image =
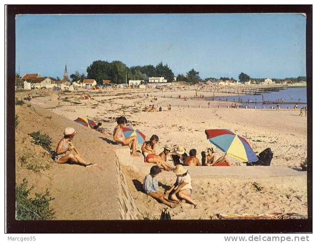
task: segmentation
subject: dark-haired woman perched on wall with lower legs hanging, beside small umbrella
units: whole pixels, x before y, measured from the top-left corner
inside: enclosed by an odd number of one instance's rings
[[[117,142],[118,145],[121,146],[126,146],[129,144],[132,144],[132,156],[139,156],[136,153],[136,136],[131,136],[129,138],[125,137],[125,134],[123,133],[122,129],[126,126],[127,124],[127,119],[124,116],[118,117],[117,118],[117,123],[118,125],[115,127],[114,130],[114,140]]]

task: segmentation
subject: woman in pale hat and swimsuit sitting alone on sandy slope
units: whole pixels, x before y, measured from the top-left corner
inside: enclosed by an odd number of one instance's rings
[[[76,131],[72,127],[65,128],[64,137],[57,145],[54,161],[57,163],[66,163],[66,162],[78,163],[85,167],[96,165],[96,163],[87,163],[81,158],[78,150],[71,143],[71,140],[73,139],[75,134],[76,134]],[[72,150],[75,151],[76,154],[70,154],[69,152]]]

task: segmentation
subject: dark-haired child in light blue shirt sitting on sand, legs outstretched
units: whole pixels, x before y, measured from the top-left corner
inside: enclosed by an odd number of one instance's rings
[[[174,208],[177,205],[176,203],[178,202],[169,200],[168,195],[164,195],[162,192],[159,191],[157,175],[161,172],[162,169],[159,166],[152,166],[150,169],[150,173],[144,178],[143,190],[147,195],[153,197],[154,199],[171,208]]]

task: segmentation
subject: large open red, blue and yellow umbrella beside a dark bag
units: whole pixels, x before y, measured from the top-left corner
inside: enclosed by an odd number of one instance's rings
[[[227,129],[205,130],[210,143],[217,146],[226,155],[230,155],[243,162],[255,162],[258,160],[248,141]]]

